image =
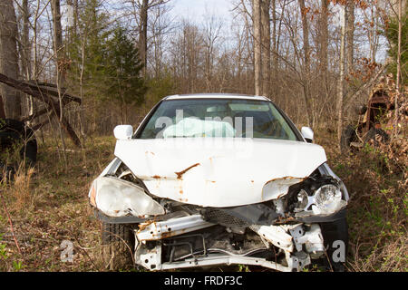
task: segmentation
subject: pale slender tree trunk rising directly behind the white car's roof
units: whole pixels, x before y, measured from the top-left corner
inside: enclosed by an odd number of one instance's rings
[[[262,92],[262,63],[261,63],[261,20],[260,20],[260,0],[252,0],[252,18],[254,23],[254,73],[255,73],[255,94]]]

